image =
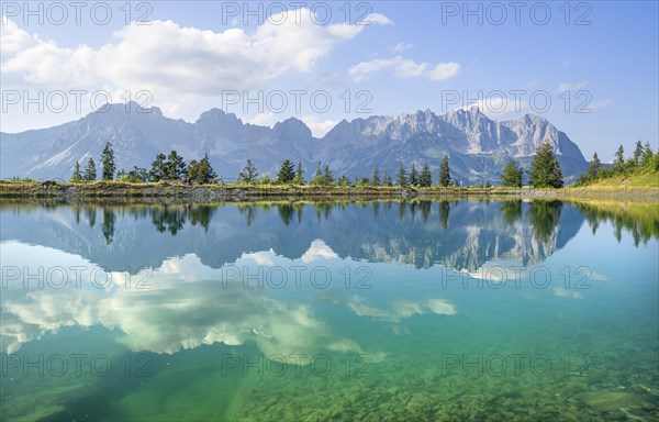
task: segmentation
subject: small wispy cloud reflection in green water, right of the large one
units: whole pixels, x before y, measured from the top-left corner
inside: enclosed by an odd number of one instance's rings
[[[439,315],[455,315],[456,307],[444,299],[426,299],[421,301],[398,300],[389,309],[373,307],[366,299],[354,296],[347,303],[347,308],[358,316],[370,316],[376,320],[398,322],[413,315],[426,312]]]

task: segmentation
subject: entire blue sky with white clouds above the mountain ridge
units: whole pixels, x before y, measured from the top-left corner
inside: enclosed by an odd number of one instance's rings
[[[656,1],[299,3],[2,2],[1,130],[78,119],[92,98],[186,121],[297,116],[319,136],[478,102],[494,120],[547,118],[587,157],[659,146]]]

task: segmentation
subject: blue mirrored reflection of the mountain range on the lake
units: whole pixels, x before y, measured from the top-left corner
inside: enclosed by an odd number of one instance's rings
[[[159,267],[193,253],[214,268],[243,253],[299,258],[323,240],[339,257],[440,263],[474,270],[485,260],[544,260],[584,216],[560,202],[372,202],[169,207],[4,207],[1,240],[80,255],[110,270]]]

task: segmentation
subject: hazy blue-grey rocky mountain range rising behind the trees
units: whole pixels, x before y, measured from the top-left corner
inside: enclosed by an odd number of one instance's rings
[[[164,116],[158,108],[129,103],[56,127],[0,133],[0,176],[66,180],[76,160],[82,167],[89,157],[98,160],[105,142],[111,142],[118,169],[149,168],[156,154],[176,149],[188,160],[208,153],[216,173],[228,180],[247,158],[261,174],[270,175],[284,158],[302,162],[306,177],[317,163],[328,164],[335,176],[369,176],[378,166],[393,177],[401,160],[407,167],[427,162],[436,177],[442,157],[448,154],[454,177],[463,184],[496,182],[509,159],[528,166],[543,141],[551,144],[563,176],[583,171],[587,163],[579,147],[546,119],[529,114],[495,122],[476,107],[444,115],[426,110],[344,120],[315,138],[294,118],[270,129],[212,109],[188,123]]]

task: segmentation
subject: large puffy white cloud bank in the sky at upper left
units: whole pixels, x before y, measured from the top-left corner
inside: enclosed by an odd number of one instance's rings
[[[300,16],[299,24],[293,16],[272,16],[254,33],[243,29],[203,31],[153,21],[115,32],[114,42],[100,48],[64,48],[29,34],[8,19],[1,44],[2,76],[70,88],[108,84],[123,90],[152,90],[154,97],[170,92],[219,95],[226,89],[258,88],[283,75],[309,73],[336,44],[368,27],[317,25],[311,12]],[[368,18],[373,24],[391,23],[382,14]]]

